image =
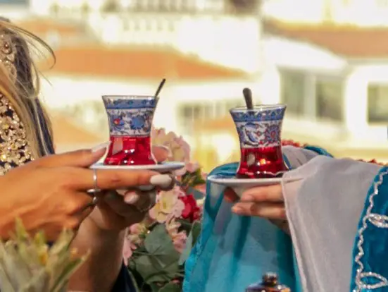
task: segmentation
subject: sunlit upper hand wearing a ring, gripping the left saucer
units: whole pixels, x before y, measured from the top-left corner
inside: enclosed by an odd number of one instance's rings
[[[0,236],[6,238],[20,217],[27,231],[43,229],[49,241],[63,228],[77,229],[94,205],[87,190],[94,188],[93,171],[105,149],[51,155],[8,171],[0,177]],[[147,185],[154,171],[98,171],[98,187],[117,189]]]

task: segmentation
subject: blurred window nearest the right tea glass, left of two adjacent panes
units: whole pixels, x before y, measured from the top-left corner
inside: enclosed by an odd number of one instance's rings
[[[287,112],[290,114],[303,115],[306,75],[299,72],[280,73],[280,95],[282,103],[287,104]]]

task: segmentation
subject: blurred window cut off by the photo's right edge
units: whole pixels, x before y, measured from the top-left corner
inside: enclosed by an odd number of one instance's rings
[[[368,122],[388,122],[388,85],[368,86]]]

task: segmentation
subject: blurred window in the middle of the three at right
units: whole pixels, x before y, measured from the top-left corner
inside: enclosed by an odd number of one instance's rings
[[[316,113],[318,118],[332,121],[342,121],[344,110],[344,95],[342,81],[317,80],[316,83]]]

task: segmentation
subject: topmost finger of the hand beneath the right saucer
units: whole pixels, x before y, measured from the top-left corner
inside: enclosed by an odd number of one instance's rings
[[[241,197],[245,202],[283,202],[282,185],[267,185],[246,190]]]

